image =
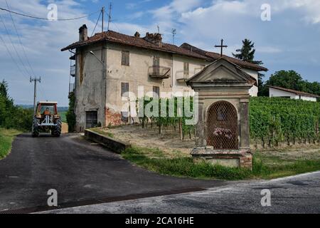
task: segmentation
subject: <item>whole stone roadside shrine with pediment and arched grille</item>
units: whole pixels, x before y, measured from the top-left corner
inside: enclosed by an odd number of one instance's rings
[[[188,81],[198,93],[195,161],[252,168],[249,90],[255,78],[221,57]]]

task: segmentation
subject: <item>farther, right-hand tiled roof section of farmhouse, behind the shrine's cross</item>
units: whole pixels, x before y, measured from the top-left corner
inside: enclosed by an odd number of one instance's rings
[[[204,50],[201,50],[200,48],[192,46],[189,43],[183,43],[180,47],[181,48],[185,48],[185,49],[187,49],[189,51],[196,52],[196,53],[201,54],[203,56],[208,56],[210,58],[213,58],[213,60],[217,60],[217,59],[219,59],[221,57],[221,55],[219,53],[210,52],[210,51],[204,51]],[[223,57],[227,58],[228,61],[230,61],[232,63],[235,63],[235,64],[237,64],[238,66],[240,66],[242,68],[248,68],[248,69],[252,69],[252,70],[255,70],[255,71],[268,71],[268,69],[263,67],[263,66],[259,66],[259,65],[254,64],[254,63],[249,63],[249,62],[246,62],[246,61],[242,61],[242,60],[240,60],[238,58],[233,58],[233,57],[229,57],[229,56],[225,56],[225,55],[223,55]]]

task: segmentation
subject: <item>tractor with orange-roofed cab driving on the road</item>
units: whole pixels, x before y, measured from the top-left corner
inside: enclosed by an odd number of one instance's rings
[[[51,133],[55,137],[61,134],[61,118],[58,114],[56,102],[41,101],[37,103],[36,113],[33,116],[32,136],[40,133]]]

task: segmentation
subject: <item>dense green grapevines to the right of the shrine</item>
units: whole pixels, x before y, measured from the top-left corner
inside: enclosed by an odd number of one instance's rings
[[[262,147],[279,142],[319,142],[320,103],[287,98],[251,98],[250,135]]]

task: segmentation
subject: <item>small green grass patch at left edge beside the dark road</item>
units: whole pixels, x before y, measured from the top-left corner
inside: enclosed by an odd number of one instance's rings
[[[0,159],[9,154],[12,141],[19,133],[21,132],[18,130],[0,128]]]

